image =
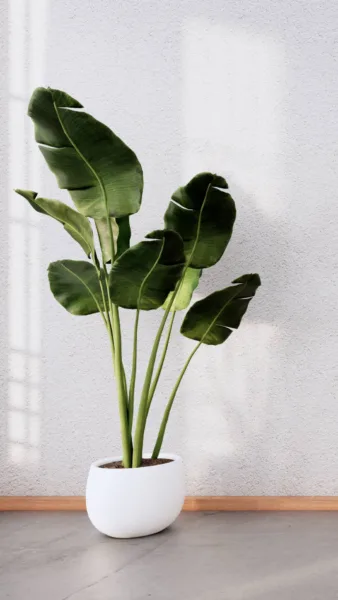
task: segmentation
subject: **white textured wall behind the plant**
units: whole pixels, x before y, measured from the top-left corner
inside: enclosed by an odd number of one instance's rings
[[[32,150],[24,113],[36,85],[67,90],[137,152],[146,185],[134,240],[198,171],[231,184],[235,233],[199,294],[250,271],[263,285],[239,332],[199,351],[177,398],[164,447],[183,455],[188,492],[337,493],[336,2],[9,5],[0,5],[1,494],[82,494],[89,463],[119,449],[101,322],[71,317],[48,290],[48,263],[80,250],[11,191],[63,197]],[[142,315],[143,369],[158,318]],[[148,448],[191,346],[177,333]]]

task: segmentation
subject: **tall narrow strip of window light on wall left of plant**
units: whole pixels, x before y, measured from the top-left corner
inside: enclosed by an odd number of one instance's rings
[[[13,188],[40,191],[41,160],[26,116],[42,84],[47,0],[9,5],[9,382],[8,459],[37,465],[41,435],[40,216]],[[27,65],[29,68],[27,69]]]

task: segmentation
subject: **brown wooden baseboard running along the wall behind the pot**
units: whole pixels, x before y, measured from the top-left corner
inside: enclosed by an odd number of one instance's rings
[[[0,511],[83,511],[83,496],[0,496]],[[183,510],[333,511],[338,496],[187,496]]]

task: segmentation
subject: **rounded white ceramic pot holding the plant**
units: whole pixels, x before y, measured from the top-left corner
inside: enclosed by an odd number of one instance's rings
[[[139,469],[100,468],[121,460],[111,456],[91,465],[86,504],[96,529],[111,537],[132,538],[157,533],[175,521],[185,495],[183,462],[175,454],[159,458],[172,461]]]

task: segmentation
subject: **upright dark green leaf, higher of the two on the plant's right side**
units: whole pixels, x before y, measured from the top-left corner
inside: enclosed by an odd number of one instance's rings
[[[211,267],[230,241],[236,208],[227,189],[223,177],[200,173],[172,195],[165,227],[180,234],[190,267]]]

